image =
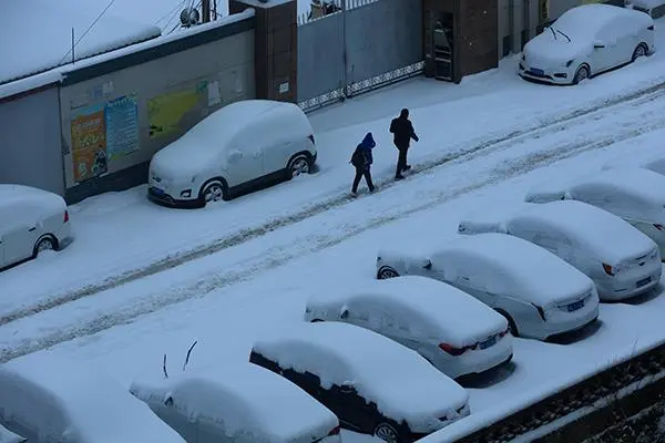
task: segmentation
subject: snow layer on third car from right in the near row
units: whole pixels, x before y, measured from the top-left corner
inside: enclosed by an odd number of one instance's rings
[[[552,253],[507,234],[459,236],[436,249],[432,261],[448,281],[472,278],[477,287],[540,306],[567,300],[593,288],[589,277]]]

